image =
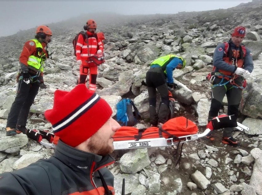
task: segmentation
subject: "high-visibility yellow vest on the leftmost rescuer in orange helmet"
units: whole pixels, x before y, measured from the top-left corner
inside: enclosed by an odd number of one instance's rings
[[[44,66],[42,65],[44,62],[43,57],[46,55],[43,52],[43,46],[37,39],[32,39],[30,41],[35,42],[36,52],[34,53],[34,55],[29,56],[27,64],[28,66],[32,66],[35,69],[41,70],[41,72],[43,72],[44,70]]]

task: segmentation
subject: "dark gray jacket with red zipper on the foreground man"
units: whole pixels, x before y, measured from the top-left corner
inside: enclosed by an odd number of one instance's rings
[[[114,194],[113,174],[105,168],[113,162],[110,155],[102,157],[87,153],[59,140],[50,159],[41,159],[23,169],[0,174],[0,195],[77,195],[81,192],[104,195],[98,169]]]

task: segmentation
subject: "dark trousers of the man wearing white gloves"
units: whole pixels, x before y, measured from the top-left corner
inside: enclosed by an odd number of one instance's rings
[[[218,115],[219,109],[222,105],[222,101],[224,96],[227,96],[228,101],[228,115],[238,114],[238,107],[242,98],[242,90],[240,88],[234,87],[228,80],[224,79],[222,82],[222,78],[215,78],[213,81],[212,92],[211,92],[211,106],[208,113],[208,120],[216,117]],[[226,85],[216,86],[217,84],[226,83]],[[234,80],[236,85],[242,86],[243,79],[242,77],[238,77]],[[231,137],[233,128],[228,127],[224,128],[223,137]]]

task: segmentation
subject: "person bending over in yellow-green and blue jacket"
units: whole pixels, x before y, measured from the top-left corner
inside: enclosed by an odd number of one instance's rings
[[[146,73],[146,85],[149,97],[149,115],[151,126],[162,126],[169,115],[168,86],[176,88],[174,83],[173,70],[185,68],[186,60],[174,54],[157,58],[150,64]],[[157,93],[161,96],[158,114],[156,112]]]

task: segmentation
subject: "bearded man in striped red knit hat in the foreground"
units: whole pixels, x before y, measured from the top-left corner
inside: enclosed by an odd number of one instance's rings
[[[45,117],[60,137],[54,156],[0,175],[0,194],[114,194],[113,174],[105,168],[120,125],[109,104],[85,84],[56,90]]]

